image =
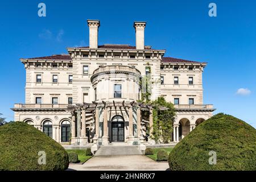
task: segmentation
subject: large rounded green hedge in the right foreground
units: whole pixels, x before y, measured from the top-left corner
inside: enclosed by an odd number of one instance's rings
[[[216,164],[210,151],[216,152]],[[210,159],[209,159],[210,158]],[[256,170],[256,130],[223,113],[197,126],[170,152],[171,170]]]

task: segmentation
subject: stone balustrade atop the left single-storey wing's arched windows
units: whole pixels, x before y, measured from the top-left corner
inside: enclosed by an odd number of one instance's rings
[[[59,109],[66,109],[68,104],[14,104],[14,108],[28,108],[28,109],[38,109],[38,108],[59,108]]]

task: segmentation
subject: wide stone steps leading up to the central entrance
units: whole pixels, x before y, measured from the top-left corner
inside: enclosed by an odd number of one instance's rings
[[[95,156],[103,155],[142,155],[142,152],[139,146],[100,146]]]

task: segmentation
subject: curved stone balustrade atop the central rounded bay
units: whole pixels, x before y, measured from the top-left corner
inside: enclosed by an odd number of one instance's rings
[[[129,66],[123,66],[123,65],[107,65],[104,67],[97,68],[94,72],[93,75],[97,73],[102,73],[102,72],[131,72],[131,73],[136,73],[138,75],[141,75],[141,72],[138,71],[138,69],[129,67]]]

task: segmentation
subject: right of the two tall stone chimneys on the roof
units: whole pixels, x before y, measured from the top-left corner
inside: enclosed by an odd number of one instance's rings
[[[135,28],[136,34],[136,49],[144,49],[144,29],[146,22],[134,22],[133,27]]]

